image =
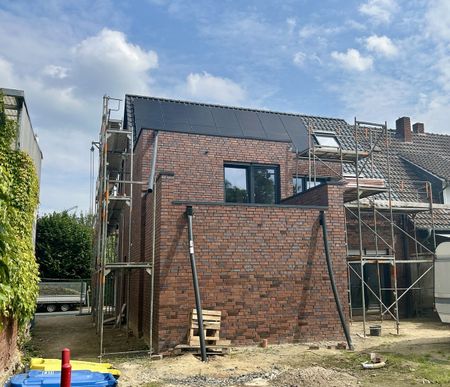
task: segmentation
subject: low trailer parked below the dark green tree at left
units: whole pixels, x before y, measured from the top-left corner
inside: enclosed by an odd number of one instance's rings
[[[87,302],[87,283],[85,281],[51,281],[39,283],[37,308],[49,313],[60,310],[67,312]]]

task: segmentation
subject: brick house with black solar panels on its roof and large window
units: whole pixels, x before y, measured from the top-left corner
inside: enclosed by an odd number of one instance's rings
[[[133,191],[129,258],[151,261],[155,246],[155,350],[184,342],[195,307],[186,206],[194,211],[202,304],[222,311],[222,337],[236,344],[263,338],[342,340],[319,215],[326,213],[337,287],[348,315],[344,186],[330,181],[294,196],[293,177],[305,168],[295,149],[308,148],[307,120],[324,128],[347,125],[126,96],[124,127],[135,137],[134,179],[148,181],[155,170],[152,192]],[[126,229],[126,218],[124,223]],[[150,286],[147,276],[134,273],[129,324],[147,340]]]

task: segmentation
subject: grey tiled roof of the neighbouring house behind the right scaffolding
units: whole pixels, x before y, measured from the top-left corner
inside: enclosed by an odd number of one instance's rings
[[[354,133],[354,126],[349,131]],[[372,129],[373,137],[380,130]],[[338,138],[340,138],[337,133]],[[439,202],[443,180],[450,181],[450,136],[435,133],[412,133],[412,141],[404,142],[395,129],[388,130],[390,156],[387,156],[386,139],[378,143],[378,151],[373,152],[373,171],[366,168],[365,177],[383,177],[389,180],[394,200],[404,202],[429,202],[427,181],[434,182],[433,202]],[[358,141],[364,149],[369,149],[368,135],[365,128],[360,128]],[[361,165],[364,163],[361,160]],[[372,164],[372,163],[369,163]],[[353,168],[350,166],[348,168]],[[388,179],[389,176],[389,179]],[[374,196],[374,199],[387,199],[386,193]],[[450,230],[450,209],[438,208],[415,216],[418,228],[431,228],[433,223],[438,230]]]

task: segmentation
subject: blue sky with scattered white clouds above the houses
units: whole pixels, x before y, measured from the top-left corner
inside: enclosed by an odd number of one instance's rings
[[[89,208],[102,96],[450,134],[448,0],[0,0],[0,87],[25,91],[40,213]]]

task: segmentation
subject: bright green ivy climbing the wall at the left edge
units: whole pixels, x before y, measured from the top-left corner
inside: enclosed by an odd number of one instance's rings
[[[1,94],[0,101],[0,315],[23,326],[38,294],[32,235],[39,188],[32,159],[11,148],[16,124],[5,116]]]

